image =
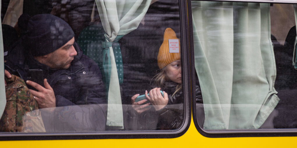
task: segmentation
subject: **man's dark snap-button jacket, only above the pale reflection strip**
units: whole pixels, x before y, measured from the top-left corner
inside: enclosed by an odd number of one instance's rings
[[[11,74],[20,76],[26,81],[29,69],[43,71],[44,78],[53,88],[56,106],[75,104],[105,104],[105,86],[98,65],[83,52],[75,43],[77,55],[68,69],[51,69],[35,60],[23,49],[22,40],[5,57],[5,69]]]

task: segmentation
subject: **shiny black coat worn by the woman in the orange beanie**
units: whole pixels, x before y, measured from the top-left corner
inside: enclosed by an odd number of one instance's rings
[[[161,110],[155,111],[154,107],[151,107],[150,110],[141,114],[133,110],[131,105],[128,106],[126,114],[124,114],[127,116],[124,122],[126,130],[170,130],[177,129],[182,125],[184,122],[184,93],[178,91],[174,94],[177,83],[166,82],[164,86],[166,87],[161,90],[168,94],[168,104]],[[196,103],[203,103],[198,78],[196,80]]]

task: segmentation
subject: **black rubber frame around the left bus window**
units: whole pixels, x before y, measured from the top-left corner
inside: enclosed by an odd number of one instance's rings
[[[181,65],[184,90],[184,122],[176,130],[155,130],[155,131],[99,131],[99,132],[73,132],[73,133],[0,133],[0,141],[12,140],[68,140],[68,139],[139,139],[139,138],[176,138],[182,136],[188,130],[191,123],[191,76],[189,71],[192,69],[190,54],[190,36],[187,16],[187,8],[190,1],[177,0],[179,3],[180,31],[181,31]]]

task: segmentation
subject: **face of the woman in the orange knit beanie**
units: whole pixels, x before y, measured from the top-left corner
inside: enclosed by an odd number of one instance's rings
[[[176,60],[165,66],[166,77],[181,84],[181,60]]]

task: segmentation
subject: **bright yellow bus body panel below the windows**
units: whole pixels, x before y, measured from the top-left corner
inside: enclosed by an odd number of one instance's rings
[[[208,138],[201,135],[193,120],[187,132],[177,138],[162,139],[90,139],[90,140],[29,140],[0,141],[1,147],[296,147],[297,137],[232,137]]]

